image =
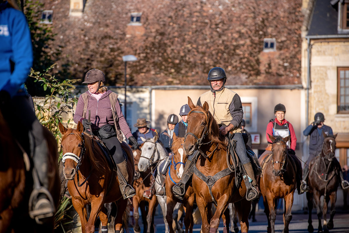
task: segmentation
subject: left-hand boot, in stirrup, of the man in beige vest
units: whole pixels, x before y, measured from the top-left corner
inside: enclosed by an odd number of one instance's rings
[[[189,159],[187,160],[187,162],[185,163],[185,166],[184,166],[182,178],[180,179],[180,181],[176,185],[174,185],[172,187],[173,195],[180,200],[183,200],[183,198],[184,198],[184,194],[185,194],[186,189],[188,187],[187,183],[193,175],[193,171],[190,168],[193,165],[195,166],[195,163],[196,163],[195,156],[192,158],[192,161],[190,161]]]

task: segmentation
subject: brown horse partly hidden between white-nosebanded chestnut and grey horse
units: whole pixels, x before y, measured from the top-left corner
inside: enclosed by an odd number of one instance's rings
[[[151,173],[151,169],[148,168],[144,172],[138,170],[138,161],[141,157],[142,151],[137,148],[133,150],[134,165],[135,165],[135,180],[133,182],[133,188],[136,190],[136,195],[132,198],[133,204],[133,217],[135,220],[135,225],[133,226],[133,231],[135,233],[140,233],[141,228],[139,227],[139,212],[138,207],[141,208],[142,220],[143,220],[143,233],[154,232],[154,216],[155,209],[158,204],[155,195],[151,198],[146,198],[143,196],[145,190],[148,190],[153,186],[155,179]],[[152,187],[154,189],[154,186]],[[155,189],[154,189],[155,190]],[[148,203],[148,207],[147,204]],[[148,209],[148,210],[147,210]]]

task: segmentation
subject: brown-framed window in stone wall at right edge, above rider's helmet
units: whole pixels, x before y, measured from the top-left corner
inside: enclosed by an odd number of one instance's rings
[[[349,113],[349,67],[338,68],[337,112]]]

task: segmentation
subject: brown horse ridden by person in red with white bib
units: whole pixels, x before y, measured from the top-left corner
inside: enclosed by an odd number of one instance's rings
[[[268,233],[275,232],[276,219],[276,203],[278,198],[283,198],[285,203],[285,211],[283,214],[284,230],[283,233],[288,233],[288,226],[292,219],[293,195],[297,188],[296,173],[302,174],[302,170],[297,171],[295,163],[300,163],[294,156],[288,155],[286,143],[291,136],[276,138],[269,135],[272,140],[272,153],[260,157],[260,163],[264,164],[263,171],[259,179],[259,189],[263,196],[264,211],[268,218]]]

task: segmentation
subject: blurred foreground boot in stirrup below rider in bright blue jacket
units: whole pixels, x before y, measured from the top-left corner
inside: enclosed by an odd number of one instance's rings
[[[33,191],[29,197],[29,216],[35,219],[37,224],[44,224],[55,212],[53,198],[48,190],[48,145],[46,140],[37,144],[31,134],[29,134],[29,138],[34,165],[32,168]]]

